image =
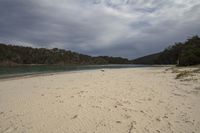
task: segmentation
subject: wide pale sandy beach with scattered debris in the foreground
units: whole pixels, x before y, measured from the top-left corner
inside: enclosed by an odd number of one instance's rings
[[[200,75],[166,67],[0,81],[0,133],[200,133]]]

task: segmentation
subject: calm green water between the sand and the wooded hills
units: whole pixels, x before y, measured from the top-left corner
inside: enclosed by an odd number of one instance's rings
[[[26,76],[33,74],[44,74],[65,71],[80,71],[92,69],[116,69],[116,68],[135,68],[146,67],[145,65],[74,65],[74,66],[59,66],[59,65],[42,65],[42,66],[0,66],[0,78],[9,78],[16,76]]]

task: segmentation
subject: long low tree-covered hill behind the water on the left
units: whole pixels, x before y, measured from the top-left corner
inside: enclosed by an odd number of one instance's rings
[[[63,49],[31,48],[0,44],[0,65],[17,64],[128,64],[128,59],[121,57],[79,54]]]

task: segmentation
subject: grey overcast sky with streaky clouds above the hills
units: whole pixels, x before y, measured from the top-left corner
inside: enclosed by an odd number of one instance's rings
[[[0,42],[136,58],[200,35],[200,0],[0,0]]]

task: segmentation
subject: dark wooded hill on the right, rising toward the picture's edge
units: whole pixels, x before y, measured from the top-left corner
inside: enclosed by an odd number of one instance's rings
[[[134,64],[177,64],[190,66],[200,64],[200,38],[194,36],[183,43],[175,43],[164,51],[134,59]]]

